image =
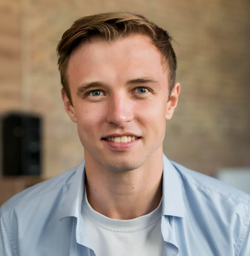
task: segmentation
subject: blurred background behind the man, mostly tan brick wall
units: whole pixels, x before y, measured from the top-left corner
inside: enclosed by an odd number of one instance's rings
[[[83,160],[76,125],[61,100],[55,50],[74,20],[113,10],[141,13],[175,39],[181,95],[167,122],[164,153],[228,183],[240,179],[236,187],[250,193],[249,0],[1,0],[0,114],[4,119],[21,111],[40,118],[34,139],[39,168],[10,178],[2,164],[2,201]],[[4,129],[13,134],[11,125]],[[13,146],[1,134],[3,162],[3,145]]]

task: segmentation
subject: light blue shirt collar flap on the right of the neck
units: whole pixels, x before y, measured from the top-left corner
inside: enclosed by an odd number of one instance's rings
[[[178,171],[163,154],[162,215],[184,218],[184,200]]]

